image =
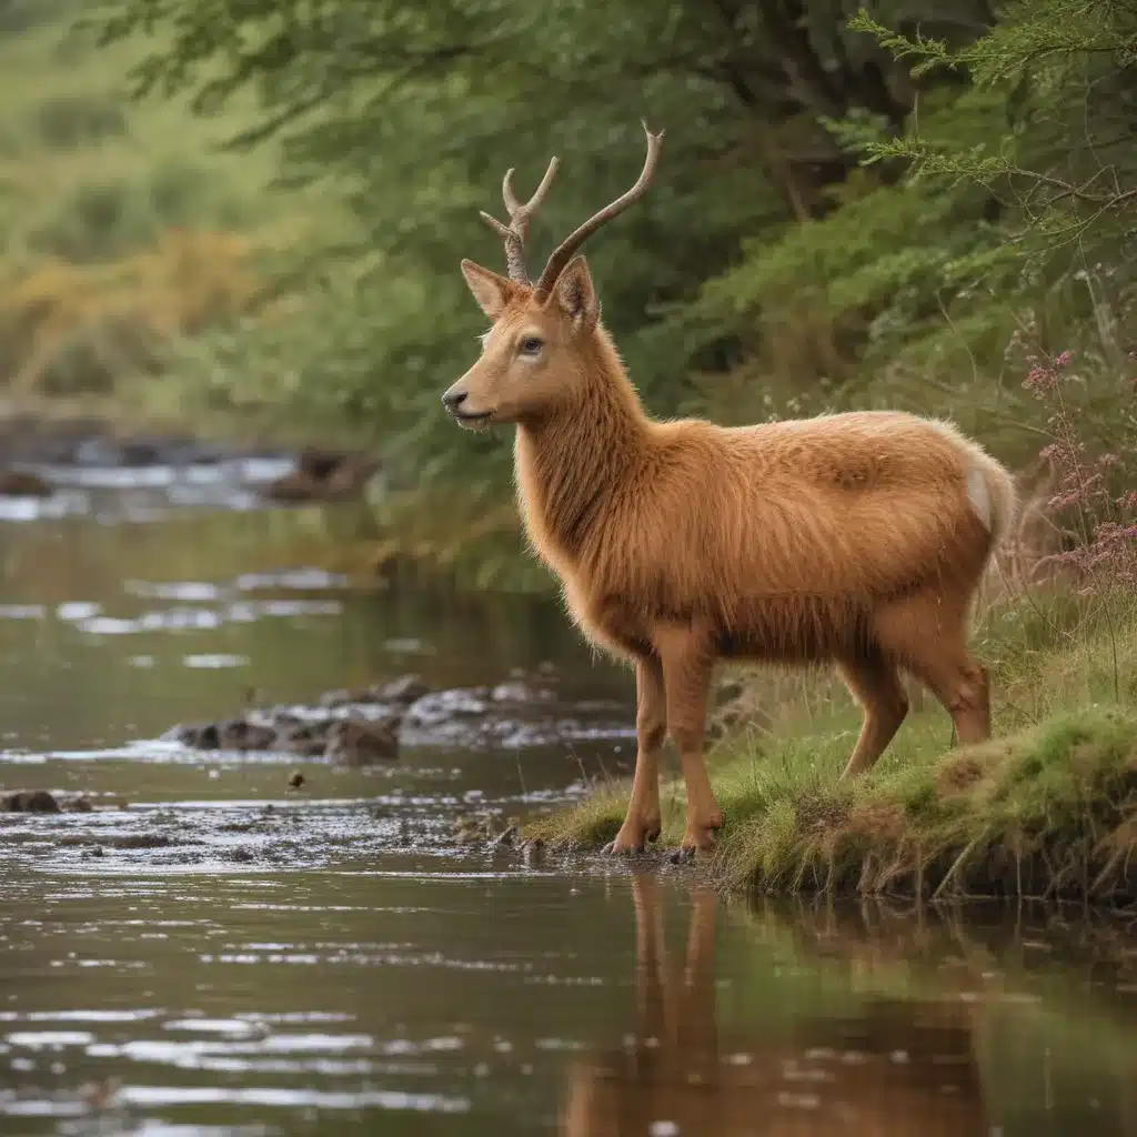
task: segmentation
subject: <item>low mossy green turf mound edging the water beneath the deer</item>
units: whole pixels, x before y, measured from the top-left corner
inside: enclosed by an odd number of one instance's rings
[[[715,775],[727,814],[711,871],[777,893],[1137,897],[1137,715],[1064,711],[928,761],[880,763],[838,783],[844,746],[783,740]],[[681,787],[663,843],[682,833]],[[620,828],[625,787],[605,787],[526,836],[597,846]]]

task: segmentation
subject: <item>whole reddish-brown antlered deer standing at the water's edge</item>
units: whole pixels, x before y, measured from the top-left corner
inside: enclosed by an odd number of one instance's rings
[[[462,272],[492,327],[442,396],[467,428],[516,425],[525,529],[597,646],[634,663],[631,800],[609,852],[659,833],[670,733],[687,789],[682,850],[723,816],[703,757],[716,659],[836,664],[864,709],[843,777],[868,770],[907,699],[899,670],[949,712],[961,742],[990,735],[987,673],[968,652],[973,595],[1016,506],[1009,473],[944,422],[893,412],[722,428],[642,410],[600,323],[583,241],[648,188],[663,133],[626,193],[549,257],[537,283],[525,232],[557,159],[522,205],[503,183],[508,277]]]

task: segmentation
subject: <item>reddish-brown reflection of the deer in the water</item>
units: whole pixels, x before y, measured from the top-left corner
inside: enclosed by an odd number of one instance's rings
[[[872,1005],[779,1040],[720,1039],[713,891],[696,890],[686,960],[669,958],[658,881],[632,878],[634,1035],[576,1063],[563,1137],[961,1137],[988,1131],[966,1009]]]

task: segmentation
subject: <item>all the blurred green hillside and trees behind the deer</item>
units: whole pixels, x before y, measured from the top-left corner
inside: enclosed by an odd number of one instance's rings
[[[3,0],[0,26],[9,387],[374,445],[376,555],[548,586],[507,439],[439,409],[483,323],[457,262],[500,267],[476,211],[555,152],[543,255],[634,177],[640,117],[661,174],[588,254],[652,412],[906,407],[1030,468],[1029,357],[1071,350],[1081,437],[1134,430],[1134,0]]]

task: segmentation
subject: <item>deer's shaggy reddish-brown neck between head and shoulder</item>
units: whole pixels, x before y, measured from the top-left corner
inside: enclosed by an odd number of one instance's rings
[[[588,382],[571,407],[517,426],[517,491],[530,538],[554,562],[578,562],[628,485],[649,422],[607,335],[598,331]]]

